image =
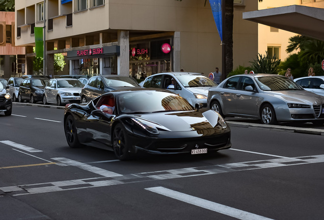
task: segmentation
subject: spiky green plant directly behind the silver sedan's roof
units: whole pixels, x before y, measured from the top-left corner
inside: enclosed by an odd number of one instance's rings
[[[258,53],[257,60],[253,60],[251,68],[255,73],[269,73],[278,74],[278,68],[281,60],[277,60],[276,55],[271,57],[268,52],[265,51],[265,55]]]

